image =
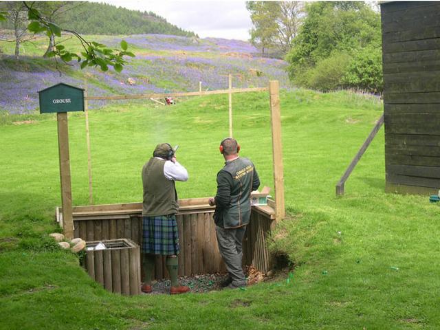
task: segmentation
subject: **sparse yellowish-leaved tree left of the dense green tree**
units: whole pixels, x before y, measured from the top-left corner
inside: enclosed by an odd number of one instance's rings
[[[275,49],[286,54],[298,34],[304,17],[303,3],[298,1],[248,1],[253,28],[251,43],[261,48]]]

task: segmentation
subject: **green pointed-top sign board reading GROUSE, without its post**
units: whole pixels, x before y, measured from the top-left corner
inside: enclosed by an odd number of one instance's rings
[[[84,89],[59,83],[39,91],[40,113],[84,111]]]

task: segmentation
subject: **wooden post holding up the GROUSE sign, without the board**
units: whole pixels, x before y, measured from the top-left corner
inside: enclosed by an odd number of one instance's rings
[[[56,113],[58,122],[58,152],[60,155],[61,203],[63,203],[63,230],[67,239],[74,238],[72,217],[72,184],[70,179],[69,129],[67,112]]]

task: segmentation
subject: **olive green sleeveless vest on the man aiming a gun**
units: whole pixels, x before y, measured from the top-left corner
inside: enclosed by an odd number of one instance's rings
[[[166,179],[164,165],[165,159],[151,157],[142,168],[142,185],[144,186],[143,217],[175,214],[179,210],[175,182]]]

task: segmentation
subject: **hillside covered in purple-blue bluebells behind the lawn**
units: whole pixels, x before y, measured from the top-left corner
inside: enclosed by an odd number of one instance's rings
[[[36,113],[39,90],[56,83],[85,87],[85,76],[89,96],[198,91],[199,82],[203,90],[226,89],[228,74],[233,75],[233,88],[264,87],[274,79],[289,87],[286,63],[258,57],[256,48],[245,41],[159,34],[87,37],[110,47],[118,47],[124,39],[135,58],[127,58],[121,73],[81,70],[75,64],[42,58],[47,47],[43,36],[23,43],[19,59],[12,56],[12,43],[0,41],[0,115]],[[80,51],[74,41],[66,43]],[[91,109],[101,105],[89,102]]]

